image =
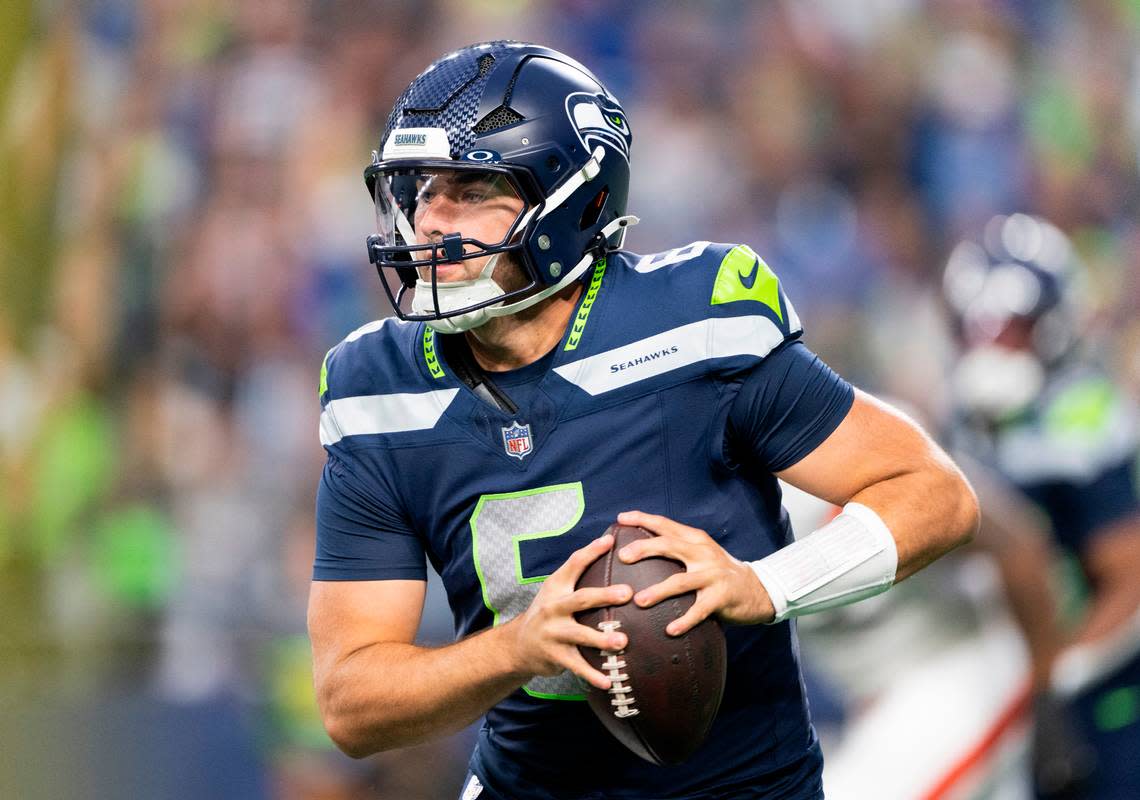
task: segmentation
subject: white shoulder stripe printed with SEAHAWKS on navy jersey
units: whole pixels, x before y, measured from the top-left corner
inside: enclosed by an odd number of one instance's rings
[[[554,372],[591,394],[728,356],[763,358],[784,334],[767,317],[712,317],[555,367]]]

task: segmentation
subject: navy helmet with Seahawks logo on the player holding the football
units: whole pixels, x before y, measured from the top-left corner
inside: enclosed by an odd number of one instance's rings
[[[579,280],[636,222],[626,217],[630,142],[617,99],[556,50],[499,41],[437,60],[397,100],[365,170],[378,223],[368,256],[396,313],[456,333]],[[417,231],[435,202],[454,205],[446,227]],[[464,226],[465,207],[489,203],[506,225],[494,242]],[[502,258],[519,264],[526,285],[495,281]],[[484,260],[477,277],[455,267],[475,259]],[[463,279],[446,279],[456,271]]]

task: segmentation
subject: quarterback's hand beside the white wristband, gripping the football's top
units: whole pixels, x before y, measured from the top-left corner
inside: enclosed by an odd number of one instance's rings
[[[705,531],[638,511],[618,514],[618,522],[657,533],[652,539],[622,547],[618,553],[621,561],[632,564],[650,556],[665,556],[685,565],[685,572],[634,596],[634,603],[648,607],[667,597],[697,593],[692,607],[666,627],[670,636],[681,636],[710,615],[732,625],[771,622],[775,617],[768,593],[756,573],[748,564],[728,555]]]

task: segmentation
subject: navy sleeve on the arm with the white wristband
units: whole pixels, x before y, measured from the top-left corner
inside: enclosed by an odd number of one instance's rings
[[[839,427],[854,400],[852,385],[807,345],[785,342],[740,383],[725,427],[727,460],[787,470]]]

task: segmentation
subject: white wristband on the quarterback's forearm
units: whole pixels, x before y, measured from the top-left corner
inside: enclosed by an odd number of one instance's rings
[[[882,594],[895,582],[895,537],[872,508],[848,503],[834,520],[749,566],[776,617],[814,614]]]

